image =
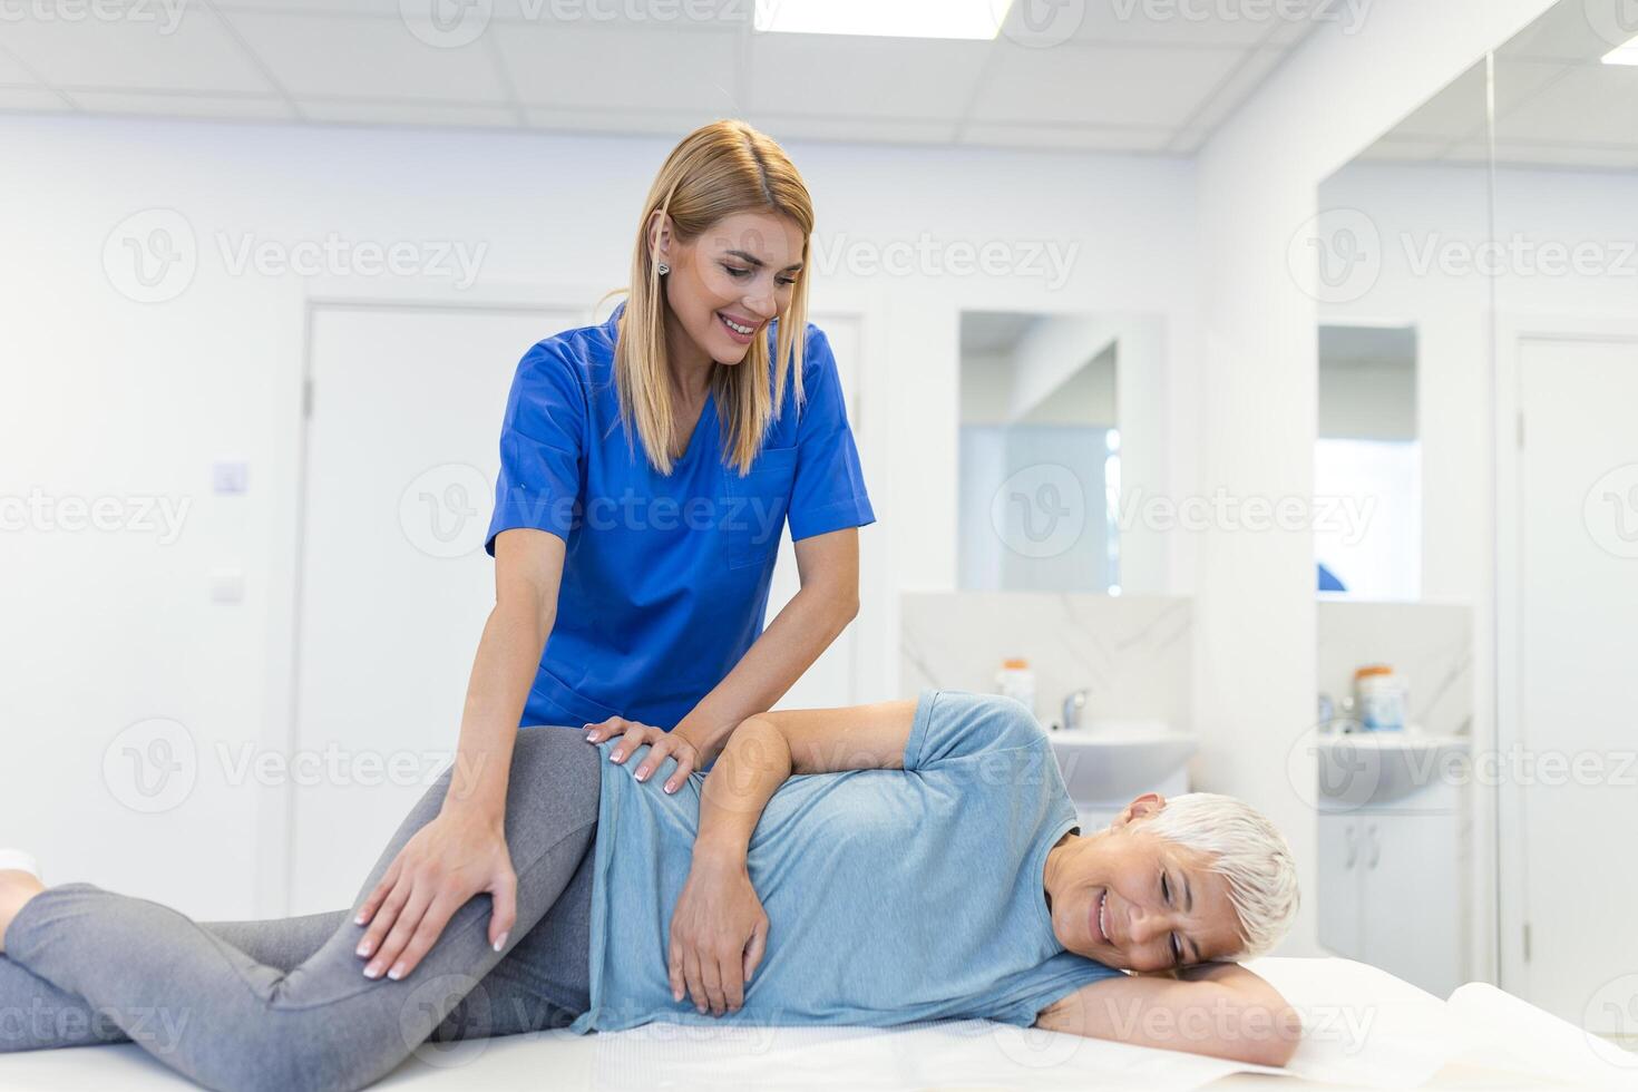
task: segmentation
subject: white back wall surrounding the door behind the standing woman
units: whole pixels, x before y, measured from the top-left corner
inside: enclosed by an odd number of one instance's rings
[[[246,740],[285,747],[305,301],[590,306],[624,282],[634,216],[668,142],[8,116],[0,146],[21,152],[0,165],[0,496],[192,504],[167,545],[136,530],[0,534],[0,827],[8,842],[36,846],[54,879],[93,879],[200,917],[277,912],[283,892],[257,868],[259,846],[282,837],[275,791],[200,771],[185,805],[138,814],[102,769],[116,735],[151,717],[185,724],[206,753]],[[814,308],[867,316],[855,426],[878,467],[868,485],[880,524],[865,534],[876,537],[894,593],[953,589],[960,311],[1156,313],[1168,323],[1166,368],[1181,368],[1196,309],[1186,275],[1192,167],[1083,154],[790,151],[817,203]],[[175,210],[200,242],[192,283],[164,303],[133,301],[103,268],[111,232],[144,210]],[[218,232],[280,247],[337,232],[354,244],[486,250],[465,290],[437,277],[346,270],[234,275]],[[1017,265],[950,268],[960,260],[952,246],[988,242]],[[1068,255],[1068,268],[1055,270],[1045,247]],[[930,257],[881,272],[916,252]],[[1186,421],[1189,403],[1168,413]],[[246,496],[210,493],[216,458],[249,463]],[[249,575],[236,606],[208,596],[210,571],[228,563]],[[860,642],[878,670],[863,696],[896,693],[896,594]]]

